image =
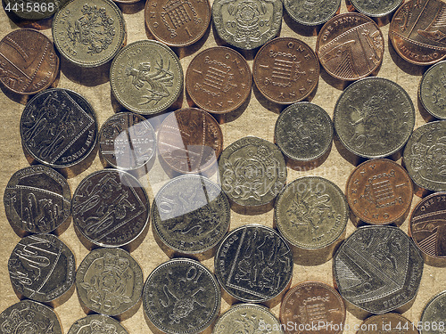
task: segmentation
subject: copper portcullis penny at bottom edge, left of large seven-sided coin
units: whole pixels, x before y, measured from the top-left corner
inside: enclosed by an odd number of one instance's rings
[[[337,334],[343,331],[345,306],[343,298],[332,287],[318,281],[304,281],[286,292],[280,306],[280,322],[287,334],[317,323],[319,334]]]

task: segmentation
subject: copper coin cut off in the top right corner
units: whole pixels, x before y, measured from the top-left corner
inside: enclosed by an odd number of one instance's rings
[[[402,59],[416,65],[434,64],[446,57],[446,4],[411,0],[394,13],[389,37]]]

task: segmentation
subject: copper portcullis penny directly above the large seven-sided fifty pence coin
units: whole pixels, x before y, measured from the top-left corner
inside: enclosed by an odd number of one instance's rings
[[[368,160],[356,167],[345,192],[353,214],[376,225],[400,223],[413,197],[408,172],[388,159]]]

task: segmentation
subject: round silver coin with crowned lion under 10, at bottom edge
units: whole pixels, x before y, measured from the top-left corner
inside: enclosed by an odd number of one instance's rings
[[[143,291],[145,314],[168,334],[206,330],[219,314],[220,299],[219,283],[209,269],[181,257],[157,266]]]

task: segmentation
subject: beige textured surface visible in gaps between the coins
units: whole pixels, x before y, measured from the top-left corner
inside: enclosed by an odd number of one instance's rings
[[[145,23],[144,23],[144,4],[140,2],[136,4],[131,10],[133,13],[125,13],[125,20],[128,28],[128,43],[146,39]],[[346,12],[345,3],[342,4],[341,12]],[[420,116],[417,108],[417,86],[420,77],[425,68],[412,66],[409,63],[402,61],[401,58],[392,50],[392,46],[388,45],[389,24],[382,27],[385,40],[385,53],[384,61],[378,76],[389,78],[401,86],[410,94],[412,102],[417,109],[417,122],[416,127],[425,123],[425,120]],[[3,10],[0,10],[0,37],[4,37],[12,29],[18,29],[18,27],[8,20]],[[45,35],[51,37],[51,29],[43,30]],[[302,36],[298,29],[293,27],[293,24],[288,18],[285,17],[282,23],[282,29],[280,31],[280,37],[297,37],[309,44],[313,49],[316,45],[315,36]],[[186,72],[188,63],[192,60],[194,55],[203,48],[216,45],[216,39],[214,37],[213,29],[208,30],[208,34],[202,38],[196,45],[183,50],[181,55],[181,62],[183,69]],[[252,67],[252,55],[248,54],[248,61]],[[97,75],[95,71],[91,69],[76,69],[73,68],[67,61],[62,60],[62,73],[60,77],[59,87],[69,88],[83,94],[89,102],[92,103],[99,122],[99,126],[109,118],[114,110],[111,100],[111,90],[107,79],[107,67],[101,73]],[[326,73],[322,70],[322,75],[319,79],[318,90],[315,94],[312,102],[317,103],[323,107],[328,114],[333,117],[333,110],[335,102],[338,96],[341,94],[341,90],[333,86],[332,80],[327,77]],[[183,106],[186,106],[186,98],[183,100]],[[21,149],[21,140],[19,134],[19,122],[21,118],[21,111],[24,105],[12,101],[12,99],[6,97],[0,93],[0,196],[2,197],[6,183],[11,175],[22,167],[27,167],[29,164],[24,157]],[[251,100],[247,105],[244,112],[234,120],[223,124],[222,130],[224,134],[225,147],[235,142],[235,140],[244,137],[245,135],[256,135],[264,138],[268,141],[273,141],[274,125],[278,116],[278,111],[281,110],[276,104],[265,102],[260,98],[255,87],[252,89]],[[401,160],[399,160],[401,162]],[[99,158],[96,157],[94,163],[87,171],[83,172],[69,180],[71,191],[74,191],[83,177],[89,173],[99,170],[102,165]],[[293,181],[295,178],[301,175],[320,175],[335,182],[341,189],[345,188],[345,183],[351,170],[354,168],[351,163],[344,159],[338,152],[335,145],[332,151],[326,159],[326,161],[319,167],[310,171],[295,171],[289,169],[288,182]],[[167,176],[159,173],[160,167],[155,163],[153,170],[149,175],[146,175],[142,181],[146,185],[146,189],[150,194],[151,200],[153,200],[153,194],[166,182]],[[414,207],[420,199],[414,197],[412,207]],[[0,205],[0,311],[3,311],[6,307],[16,303],[18,298],[12,290],[12,285],[9,280],[9,274],[7,270],[7,261],[12,249],[20,238],[12,232],[11,226],[8,224],[4,215],[4,206]],[[231,212],[231,229],[241,225],[249,223],[259,223],[272,226],[273,211],[269,211],[261,216],[244,216]],[[355,227],[349,221],[347,227],[347,235],[350,235],[354,231]],[[408,231],[407,221],[401,225],[401,229],[404,232]],[[76,256],[77,265],[87,256],[87,248],[85,248],[79,241],[73,230],[72,224],[66,232],[63,232],[61,239],[70,247]],[[132,253],[140,265],[143,267],[145,279],[153,268],[160,265],[162,262],[168,260],[168,257],[158,248],[157,244],[153,240],[153,232],[150,230],[139,248]],[[211,270],[213,270],[213,258],[204,262]],[[317,280],[323,281],[328,284],[333,284],[332,276],[332,262],[328,261],[324,265],[318,266],[294,266],[293,272],[293,285],[301,281]],[[425,303],[433,297],[436,293],[446,289],[444,268],[434,268],[425,265],[425,271],[423,273],[423,279],[421,281],[421,287],[419,289],[417,298],[414,305],[404,315],[412,322],[419,320],[422,308]],[[221,312],[225,312],[229,305],[224,301],[221,306]],[[278,315],[279,306],[273,308],[273,312]],[[85,316],[82,311],[76,293],[74,293],[70,299],[63,305],[58,306],[55,309],[62,322],[63,331],[66,333],[70,329],[70,325],[77,319]],[[347,314],[347,323],[351,326],[360,323],[352,314]],[[123,325],[128,329],[129,333],[150,333],[143,314],[143,307],[141,306],[137,313],[123,322]],[[352,333],[353,330],[350,331]]]

